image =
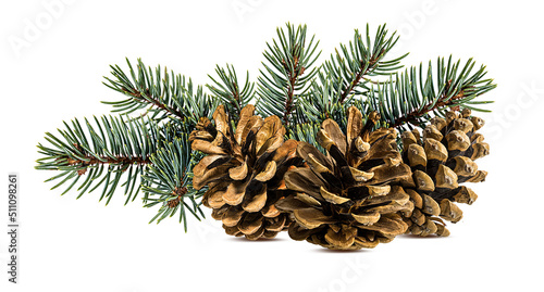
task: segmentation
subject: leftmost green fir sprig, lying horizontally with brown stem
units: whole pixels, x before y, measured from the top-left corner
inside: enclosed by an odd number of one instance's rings
[[[118,187],[125,188],[125,204],[134,201],[139,191],[138,174],[150,164],[149,156],[165,134],[151,122],[125,122],[121,116],[94,119],[95,126],[85,118],[87,130],[74,119],[72,125],[64,122],[65,129],[59,129],[58,137],[46,132],[50,145],[38,144],[38,153],[45,156],[37,160],[36,169],[60,170],[46,181],[62,179],[52,189],[70,182],[62,194],[84,180],[77,199],[103,186],[100,201],[107,199],[106,204]]]

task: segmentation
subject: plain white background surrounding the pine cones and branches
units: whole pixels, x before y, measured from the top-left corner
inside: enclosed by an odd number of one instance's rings
[[[61,5],[51,11],[52,2]],[[20,174],[22,234],[18,285],[8,283],[8,237],[0,234],[0,291],[542,291],[544,17],[536,3],[2,1],[0,189],[7,192],[9,172]],[[99,102],[122,98],[101,85],[109,64],[143,58],[205,84],[215,64],[228,62],[256,78],[265,41],[286,22],[308,24],[324,58],[354,28],[387,23],[404,36],[398,52],[411,52],[406,65],[449,54],[487,65],[498,88],[486,94],[496,101],[482,115],[492,154],[479,166],[490,175],[471,186],[479,200],[461,206],[449,238],[399,237],[344,253],[287,234],[230,238],[212,218],[189,221],[184,233],[174,219],[148,225],[154,210],[123,206],[121,193],[109,206],[98,193],[61,196],[42,182],[49,173],[34,170],[44,132],[107,114]]]

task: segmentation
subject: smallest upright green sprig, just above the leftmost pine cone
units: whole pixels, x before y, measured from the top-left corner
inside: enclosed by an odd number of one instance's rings
[[[226,105],[226,110],[231,113],[233,122],[237,123],[242,109],[249,104],[255,96],[255,84],[249,81],[248,72],[246,74],[246,81],[244,86],[240,87],[233,65],[226,64],[226,69],[217,66],[215,73],[219,76],[219,80],[208,75],[213,81],[213,85],[207,85],[207,87],[210,89],[213,97],[223,101]]]

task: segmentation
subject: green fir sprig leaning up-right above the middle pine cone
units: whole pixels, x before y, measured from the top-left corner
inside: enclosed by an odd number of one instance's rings
[[[400,62],[407,54],[386,58],[397,41],[396,33],[390,34],[385,25],[379,26],[373,36],[369,25],[364,36],[356,29],[353,41],[341,43],[312,80],[308,93],[300,97],[294,123],[320,124],[332,118],[345,130],[349,106],[368,112],[372,86],[383,82],[374,77],[403,67]]]

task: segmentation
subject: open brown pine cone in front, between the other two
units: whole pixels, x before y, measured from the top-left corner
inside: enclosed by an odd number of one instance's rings
[[[299,142],[297,155],[309,167],[285,174],[290,194],[276,203],[295,221],[289,236],[333,250],[374,247],[404,233],[408,225],[399,212],[409,215],[413,204],[401,187],[392,187],[411,176],[397,150],[394,129],[372,131],[380,118],[348,109],[347,137],[333,119],[322,123],[318,142],[325,156],[313,145]]]

